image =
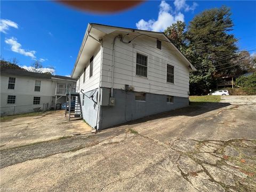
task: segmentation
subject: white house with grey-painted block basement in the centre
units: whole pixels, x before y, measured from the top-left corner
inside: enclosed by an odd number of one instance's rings
[[[188,106],[194,70],[164,33],[90,23],[71,77],[99,130]]]

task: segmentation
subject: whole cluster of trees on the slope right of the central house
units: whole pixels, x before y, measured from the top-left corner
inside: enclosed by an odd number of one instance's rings
[[[197,68],[190,73],[191,95],[209,93],[222,75],[239,76],[256,69],[255,57],[246,50],[238,51],[230,16],[230,9],[222,6],[199,13],[188,26],[178,21],[164,31]]]

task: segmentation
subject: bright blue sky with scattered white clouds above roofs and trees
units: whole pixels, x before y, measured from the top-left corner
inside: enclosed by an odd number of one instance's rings
[[[52,1],[1,1],[1,57],[17,58],[27,67],[38,59],[44,68],[55,67],[55,74],[69,75],[89,22],[161,31],[221,5],[231,9],[239,49],[255,49],[256,1],[148,1],[115,14],[82,12]]]

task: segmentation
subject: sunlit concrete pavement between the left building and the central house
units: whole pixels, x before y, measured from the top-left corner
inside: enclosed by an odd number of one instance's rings
[[[1,149],[90,133],[92,130],[82,120],[69,122],[63,110],[49,111],[38,116],[14,118],[1,122],[0,127]]]

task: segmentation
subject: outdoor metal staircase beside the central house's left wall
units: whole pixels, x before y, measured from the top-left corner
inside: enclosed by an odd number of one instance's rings
[[[82,118],[82,105],[80,94],[76,92],[72,92],[71,89],[66,93],[66,109],[65,109],[65,117],[67,117],[70,121],[70,118]]]

